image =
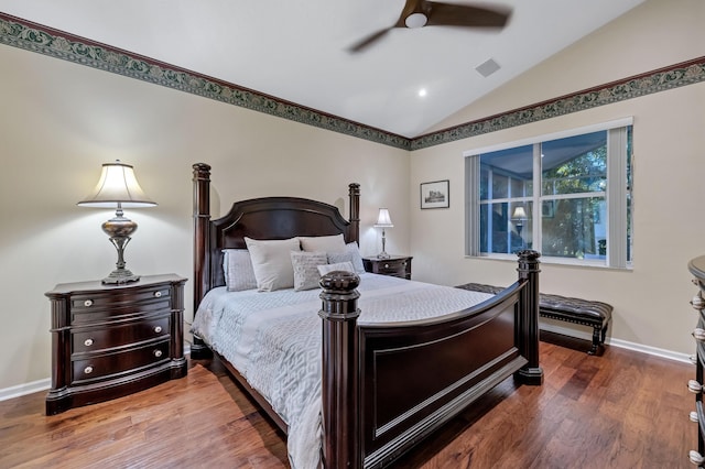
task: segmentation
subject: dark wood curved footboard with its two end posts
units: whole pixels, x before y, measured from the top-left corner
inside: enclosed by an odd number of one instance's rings
[[[507,378],[540,384],[538,258],[496,297],[409,323],[357,325],[359,279],[324,276],[325,467],[383,467]]]

